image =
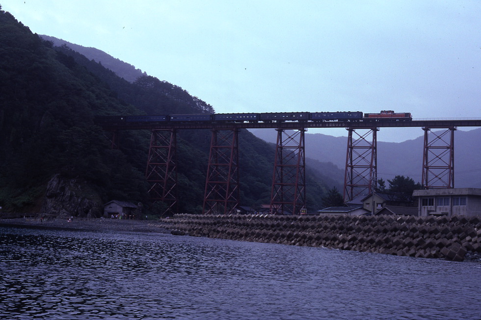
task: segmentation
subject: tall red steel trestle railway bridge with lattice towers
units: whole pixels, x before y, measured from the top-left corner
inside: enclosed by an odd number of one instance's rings
[[[277,130],[272,175],[270,213],[304,214],[305,144],[307,128],[346,128],[347,152],[343,196],[346,202],[373,192],[377,182],[376,133],[381,127],[419,127],[424,130],[422,185],[427,189],[454,188],[454,131],[457,127],[481,127],[481,120],[327,121],[271,123],[108,123],[112,148],[118,148],[119,130],[151,130],[146,178],[153,201],[177,203],[176,132],[182,129],[212,130],[204,192],[205,214],[227,214],[239,206],[239,131],[249,128]],[[433,131],[432,129],[436,129]],[[294,130],[294,131],[291,131]],[[293,133],[291,133],[293,132]]]

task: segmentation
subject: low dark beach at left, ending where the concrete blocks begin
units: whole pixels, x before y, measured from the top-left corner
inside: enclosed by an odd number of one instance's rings
[[[152,220],[122,220],[106,218],[73,218],[40,220],[39,218],[0,219],[0,227],[61,229],[78,231],[118,231],[170,233]]]

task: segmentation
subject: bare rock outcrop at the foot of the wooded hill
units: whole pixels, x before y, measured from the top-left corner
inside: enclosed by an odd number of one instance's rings
[[[47,185],[42,212],[56,217],[98,218],[103,206],[99,195],[85,181],[55,174]]]

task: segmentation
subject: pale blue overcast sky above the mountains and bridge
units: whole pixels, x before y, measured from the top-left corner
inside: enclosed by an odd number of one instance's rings
[[[32,32],[103,50],[217,113],[394,110],[414,119],[481,118],[478,0],[0,4]],[[422,134],[381,128],[377,139]]]

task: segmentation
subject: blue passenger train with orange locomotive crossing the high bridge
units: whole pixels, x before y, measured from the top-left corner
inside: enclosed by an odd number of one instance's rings
[[[266,112],[266,113],[202,113],[158,116],[99,116],[97,123],[272,123],[272,122],[381,122],[412,121],[408,112],[396,113],[383,110],[380,113],[362,113],[360,111],[337,112]]]

